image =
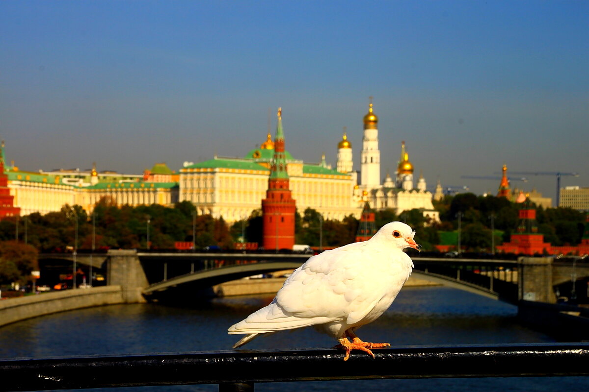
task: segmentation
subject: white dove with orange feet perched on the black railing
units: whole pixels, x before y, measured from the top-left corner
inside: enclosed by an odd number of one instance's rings
[[[352,350],[374,358],[370,349],[391,345],[366,343],[355,331],[378,319],[409,279],[413,262],[403,249],[421,249],[413,236],[405,223],[391,222],[368,241],[310,257],[284,282],[272,303],[229,327],[229,334],[247,334],[233,348],[260,334],[315,326],[339,341],[334,348],[346,350],[343,360]]]

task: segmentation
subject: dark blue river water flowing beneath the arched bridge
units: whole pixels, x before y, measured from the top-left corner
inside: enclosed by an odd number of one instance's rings
[[[214,299],[198,307],[131,304],[52,314],[0,328],[0,357],[144,354],[227,350],[239,336],[227,327],[272,296]],[[517,308],[446,287],[406,287],[380,319],[359,330],[366,341],[395,346],[542,343],[551,337],[520,326]],[[333,347],[313,329],[277,333],[247,349]],[[352,355],[362,355],[353,353]],[[0,381],[1,382],[1,381]],[[589,377],[462,378],[429,380],[260,383],[256,391],[589,391]],[[216,391],[217,386],[118,388],[125,392]]]

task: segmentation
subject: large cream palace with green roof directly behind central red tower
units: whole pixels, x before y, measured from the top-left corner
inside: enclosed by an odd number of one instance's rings
[[[338,145],[338,167],[347,170],[351,167],[352,145],[346,138],[342,142]],[[275,143],[268,133],[260,148],[250,150],[243,158],[214,156],[204,162],[187,164],[180,169],[180,201],[188,200],[199,214],[223,216],[229,223],[247,219],[266,197]],[[360,197],[355,196],[359,194],[355,192],[356,173],[332,169],[325,156],[319,163],[308,163],[293,158],[285,150],[284,160],[299,212],[312,208],[324,219],[360,217]]]

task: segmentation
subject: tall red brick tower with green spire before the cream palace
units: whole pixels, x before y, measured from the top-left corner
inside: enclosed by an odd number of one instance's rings
[[[270,177],[266,199],[262,200],[264,222],[264,249],[292,249],[294,245],[294,213],[296,202],[289,189],[289,175],[284,155],[282,109],[278,108],[278,124],[274,139],[274,157],[270,165]]]

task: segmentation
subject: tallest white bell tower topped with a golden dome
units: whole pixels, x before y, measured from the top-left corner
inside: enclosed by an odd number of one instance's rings
[[[372,97],[368,114],[364,116],[364,137],[362,138],[362,163],[360,164],[362,189],[380,187],[380,151],[378,149],[378,117],[372,113]]]

